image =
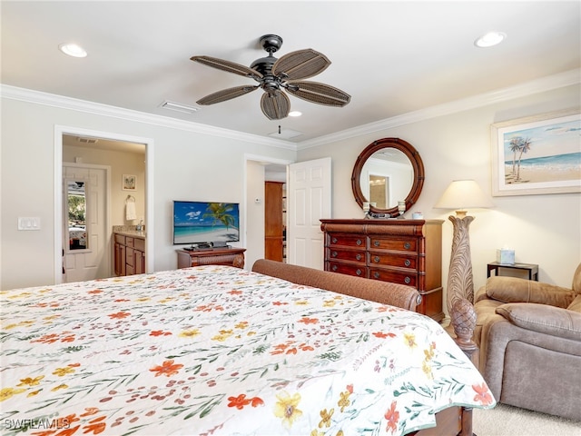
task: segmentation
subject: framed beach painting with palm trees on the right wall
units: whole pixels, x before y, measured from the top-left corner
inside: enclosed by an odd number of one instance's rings
[[[492,124],[492,194],[581,193],[581,114]]]

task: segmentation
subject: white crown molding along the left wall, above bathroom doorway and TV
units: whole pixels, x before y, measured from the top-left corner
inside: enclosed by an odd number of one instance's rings
[[[297,146],[289,141],[281,139],[267,138],[258,134],[246,134],[235,130],[223,129],[206,124],[193,123],[191,121],[178,120],[157,114],[145,114],[131,109],[111,106],[80,100],[63,95],[48,94],[32,89],[19,88],[7,84],[0,84],[0,96],[12,100],[19,100],[27,103],[44,104],[47,106],[69,109],[84,112],[86,114],[96,114],[110,116],[113,118],[133,121],[143,124],[153,124],[170,129],[183,130],[197,134],[209,134],[221,138],[243,141],[251,144],[268,145],[271,147],[284,148],[296,151]]]

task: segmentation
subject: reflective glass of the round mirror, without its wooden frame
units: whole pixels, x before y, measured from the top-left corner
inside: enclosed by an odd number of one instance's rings
[[[396,207],[409,194],[414,170],[408,156],[395,148],[375,152],[363,165],[359,176],[361,193],[378,209]]]

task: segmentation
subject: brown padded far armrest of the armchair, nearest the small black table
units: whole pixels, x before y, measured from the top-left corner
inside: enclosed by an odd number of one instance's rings
[[[561,286],[517,277],[490,277],[485,286],[487,297],[498,302],[535,302],[566,308],[576,295]]]

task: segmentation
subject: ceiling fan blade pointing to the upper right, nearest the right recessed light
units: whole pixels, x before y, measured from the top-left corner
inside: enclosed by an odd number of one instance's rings
[[[302,80],[319,74],[329,65],[327,56],[307,48],[281,56],[272,65],[272,74],[286,80]]]

